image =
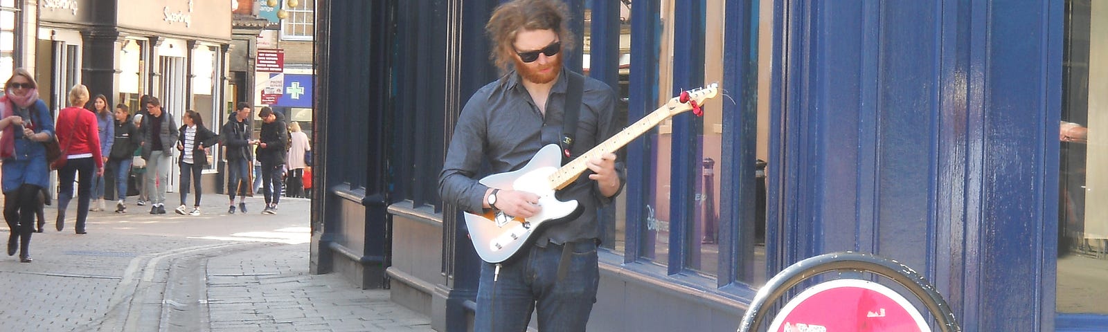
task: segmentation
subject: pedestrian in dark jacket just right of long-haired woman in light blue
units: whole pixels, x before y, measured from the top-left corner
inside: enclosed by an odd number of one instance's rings
[[[138,127],[131,121],[127,105],[115,105],[115,138],[107,155],[109,174],[115,179],[115,212],[127,211],[127,180],[131,178],[131,164],[134,162],[135,148],[138,146]]]

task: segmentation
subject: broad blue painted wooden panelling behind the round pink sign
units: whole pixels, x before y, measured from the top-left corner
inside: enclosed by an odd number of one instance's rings
[[[1009,2],[776,2],[771,270],[872,251],[967,331],[1053,330],[1061,6]]]

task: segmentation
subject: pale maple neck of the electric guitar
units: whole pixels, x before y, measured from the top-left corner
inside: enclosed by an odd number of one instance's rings
[[[655,110],[654,112],[640,118],[639,121],[635,122],[630,126],[624,128],[619,133],[612,135],[612,137],[608,138],[607,141],[597,144],[595,147],[593,147],[585,154],[574,158],[568,164],[565,164],[565,166],[562,166],[562,168],[558,168],[557,172],[551,174],[550,176],[551,187],[555,189],[562,189],[565,186],[568,186],[571,183],[573,183],[573,180],[577,179],[577,177],[581,176],[582,173],[588,170],[588,166],[586,164],[588,159],[593,157],[603,156],[606,153],[615,152],[620,147],[624,147],[625,145],[627,145],[627,143],[635,141],[635,138],[637,138],[638,136],[650,131],[650,128],[654,128],[654,126],[657,126],[663,121],[666,121],[666,118],[669,118],[669,116],[673,114],[671,113],[673,108],[681,106],[684,105],[681,104],[673,105],[673,103],[669,103],[658,110]]]

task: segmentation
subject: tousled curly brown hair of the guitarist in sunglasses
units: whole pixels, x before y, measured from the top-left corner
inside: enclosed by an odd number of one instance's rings
[[[562,41],[562,50],[573,49],[573,32],[570,32],[570,9],[558,0],[514,0],[505,2],[492,12],[485,33],[493,46],[489,59],[502,71],[509,71],[515,63],[515,35],[521,30],[553,30]]]

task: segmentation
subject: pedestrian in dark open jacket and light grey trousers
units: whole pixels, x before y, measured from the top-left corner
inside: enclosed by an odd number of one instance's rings
[[[162,108],[162,102],[152,96],[146,102],[148,115],[143,117],[142,154],[146,160],[146,195],[150,214],[165,215],[165,190],[170,184],[170,163],[173,147],[177,145],[177,122]]]

